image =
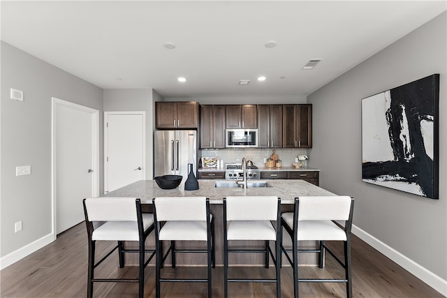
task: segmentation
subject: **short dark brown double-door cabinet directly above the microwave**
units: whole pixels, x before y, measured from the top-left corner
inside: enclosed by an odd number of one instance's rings
[[[226,128],[258,128],[257,105],[226,105]]]

